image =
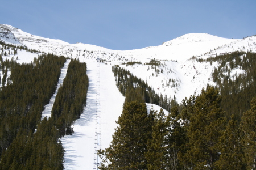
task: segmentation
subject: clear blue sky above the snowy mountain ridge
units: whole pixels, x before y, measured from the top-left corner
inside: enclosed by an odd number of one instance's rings
[[[255,0],[3,0],[0,23],[33,35],[114,50],[156,46],[186,33],[256,34]]]

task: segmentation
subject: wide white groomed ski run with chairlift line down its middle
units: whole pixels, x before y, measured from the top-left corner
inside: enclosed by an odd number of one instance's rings
[[[72,135],[61,138],[65,148],[65,169],[93,169],[95,159],[96,114],[100,115],[101,148],[109,146],[112,141],[115,121],[122,113],[125,97],[115,85],[112,66],[100,63],[99,89],[97,90],[97,62],[86,61],[89,88],[84,112],[73,125],[75,131]],[[99,101],[97,101],[99,92]],[[100,107],[97,112],[97,102]]]

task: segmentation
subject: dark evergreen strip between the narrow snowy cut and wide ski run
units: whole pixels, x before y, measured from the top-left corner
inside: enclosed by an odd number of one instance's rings
[[[86,105],[88,82],[86,63],[72,59],[52,108],[59,137],[73,133],[71,125],[80,118]]]

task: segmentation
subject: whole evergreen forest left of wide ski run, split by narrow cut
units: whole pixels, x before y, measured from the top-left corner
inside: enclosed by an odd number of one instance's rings
[[[72,135],[71,125],[85,107],[85,63],[72,59],[52,117],[42,121],[41,117],[44,105],[56,90],[65,61],[65,57],[53,54],[40,54],[28,64],[1,58],[4,74],[0,89],[0,169],[64,168],[64,148],[59,138]]]

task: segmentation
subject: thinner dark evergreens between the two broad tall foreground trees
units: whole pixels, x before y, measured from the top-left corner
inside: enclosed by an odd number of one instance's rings
[[[177,106],[165,116],[151,110],[154,116],[152,139],[148,139],[146,154],[148,169],[183,169],[179,154],[184,154],[188,142],[187,131],[180,120]]]

